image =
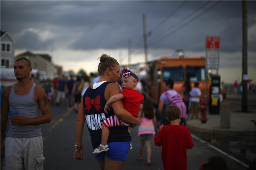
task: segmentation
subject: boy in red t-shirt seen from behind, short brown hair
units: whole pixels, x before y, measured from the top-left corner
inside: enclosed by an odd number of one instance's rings
[[[160,131],[154,138],[157,146],[162,146],[162,161],[164,170],[186,170],[186,149],[192,149],[192,141],[189,129],[180,124],[180,108],[176,105],[168,105],[166,119],[170,125],[160,125]]]

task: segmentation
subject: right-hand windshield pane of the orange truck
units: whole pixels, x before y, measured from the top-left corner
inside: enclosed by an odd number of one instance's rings
[[[205,81],[206,71],[204,66],[186,66],[186,78],[191,81]]]

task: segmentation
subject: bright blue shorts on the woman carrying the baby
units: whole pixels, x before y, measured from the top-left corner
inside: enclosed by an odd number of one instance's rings
[[[103,161],[106,157],[113,161],[125,161],[130,150],[130,142],[110,142],[108,148],[109,150],[106,152],[95,154],[96,159]]]

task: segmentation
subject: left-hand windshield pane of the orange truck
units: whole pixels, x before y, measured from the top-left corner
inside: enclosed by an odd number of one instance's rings
[[[184,68],[183,67],[164,67],[163,80],[172,78],[173,81],[179,82],[184,81]]]

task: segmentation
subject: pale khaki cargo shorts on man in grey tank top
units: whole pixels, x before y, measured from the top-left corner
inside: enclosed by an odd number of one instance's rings
[[[43,170],[43,138],[6,137],[3,170]]]

